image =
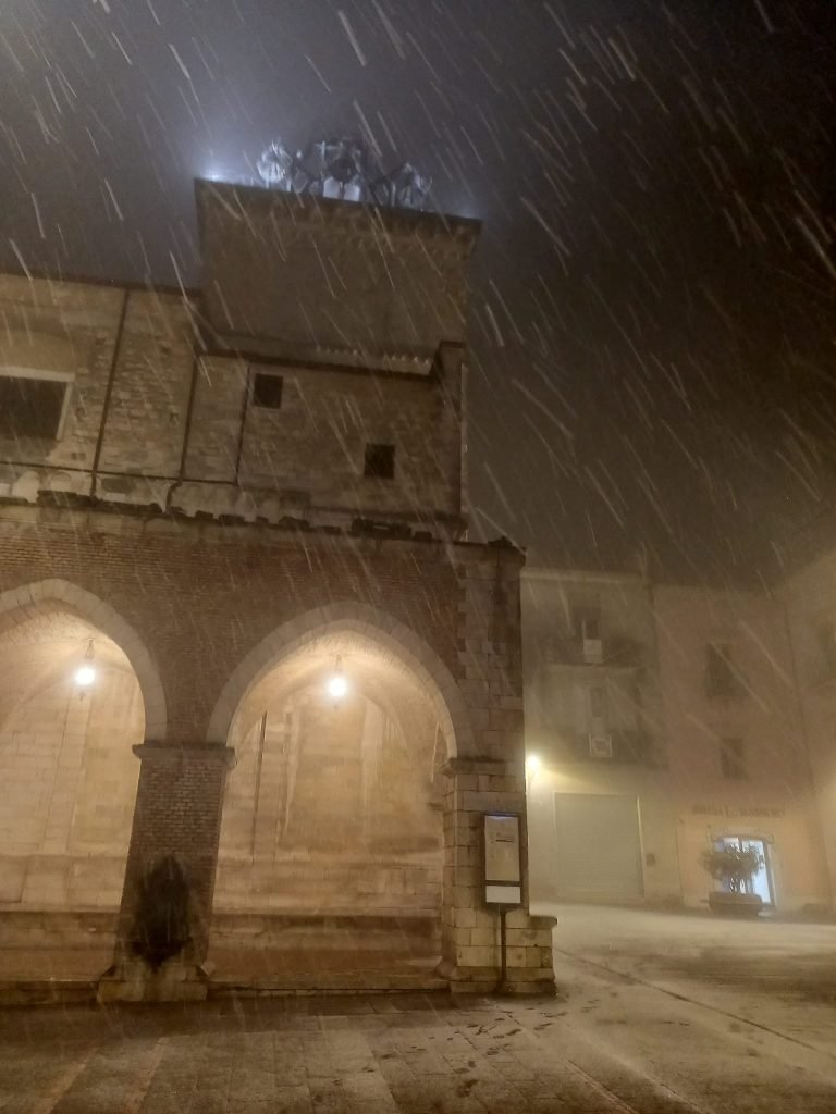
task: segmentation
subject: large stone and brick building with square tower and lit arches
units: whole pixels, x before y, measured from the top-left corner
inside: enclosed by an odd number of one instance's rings
[[[221,915],[412,926],[489,988],[525,783],[522,556],[465,540],[478,225],[196,197],[198,290],[0,276],[0,919],[118,909],[101,997],[205,995]]]

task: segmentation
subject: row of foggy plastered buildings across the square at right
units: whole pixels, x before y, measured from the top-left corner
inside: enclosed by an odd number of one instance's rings
[[[761,853],[768,906],[830,907],[824,602],[818,627],[799,617],[811,580],[820,568],[772,594],[525,571],[535,900],[703,907],[701,854],[732,842]]]

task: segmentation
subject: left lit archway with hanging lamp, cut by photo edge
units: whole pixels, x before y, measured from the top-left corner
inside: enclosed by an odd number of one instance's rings
[[[103,600],[49,580],[0,594],[0,902],[116,909],[146,700],[165,733],[150,657]]]

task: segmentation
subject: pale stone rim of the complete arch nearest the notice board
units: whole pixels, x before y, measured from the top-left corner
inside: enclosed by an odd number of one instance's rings
[[[422,638],[386,612],[369,604],[336,603],[313,608],[282,624],[237,665],[214,707],[206,742],[226,744],[235,713],[246,695],[286,657],[323,635],[353,632],[377,643],[411,671],[425,686],[447,741],[447,756],[467,753],[473,729],[456,678]]]

